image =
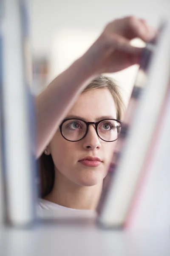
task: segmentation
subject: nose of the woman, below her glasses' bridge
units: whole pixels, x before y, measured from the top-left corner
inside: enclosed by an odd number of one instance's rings
[[[83,148],[89,150],[98,150],[101,148],[100,138],[96,134],[95,126],[89,125],[88,133],[85,138],[82,140]]]

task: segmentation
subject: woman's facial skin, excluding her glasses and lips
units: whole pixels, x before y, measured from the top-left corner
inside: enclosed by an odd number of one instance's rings
[[[116,119],[116,107],[111,93],[106,88],[82,93],[68,112],[66,118],[79,118],[87,122],[102,119]],[[68,180],[80,186],[94,186],[101,183],[107,174],[116,141],[101,140],[94,125],[89,125],[86,136],[77,142],[65,140],[59,129],[49,145],[55,170]],[[89,166],[85,157],[98,157],[101,162]]]

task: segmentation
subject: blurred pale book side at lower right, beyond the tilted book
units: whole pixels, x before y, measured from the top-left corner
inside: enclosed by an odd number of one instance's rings
[[[127,228],[170,229],[170,84],[150,145],[141,186],[134,198]]]

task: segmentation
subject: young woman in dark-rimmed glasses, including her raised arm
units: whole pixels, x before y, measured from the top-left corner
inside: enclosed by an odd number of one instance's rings
[[[41,208],[96,208],[121,126],[121,98],[111,91],[115,84],[107,86],[107,79],[102,88],[99,81],[93,90],[87,85],[102,73],[139,63],[142,49],[133,47],[130,40],[150,41],[155,35],[142,19],[114,20],[88,51],[37,97],[37,157],[45,150],[47,156],[42,158],[51,158],[43,163],[50,171],[44,178],[49,179],[48,185],[42,183],[45,200],[41,200]]]

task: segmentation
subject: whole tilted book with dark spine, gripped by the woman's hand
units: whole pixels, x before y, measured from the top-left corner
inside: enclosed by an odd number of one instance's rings
[[[153,52],[150,60],[146,58],[146,50]],[[147,44],[142,61],[97,208],[97,221],[105,227],[125,227],[144,172],[142,167],[168,90],[170,27],[167,23],[160,27],[155,44]],[[139,90],[141,72],[145,84],[142,91]]]

